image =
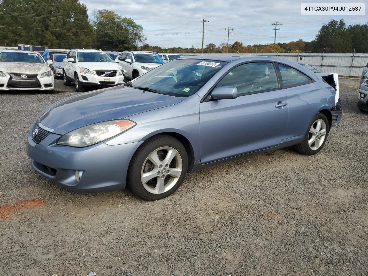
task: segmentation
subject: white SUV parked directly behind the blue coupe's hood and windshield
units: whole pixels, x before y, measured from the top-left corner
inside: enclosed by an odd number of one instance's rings
[[[125,77],[129,79],[135,79],[164,63],[158,53],[149,51],[125,51],[117,60],[125,70]]]

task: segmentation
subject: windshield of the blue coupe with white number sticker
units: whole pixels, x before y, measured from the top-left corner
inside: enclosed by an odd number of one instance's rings
[[[176,97],[196,93],[226,62],[199,59],[176,59],[146,72],[131,84]]]

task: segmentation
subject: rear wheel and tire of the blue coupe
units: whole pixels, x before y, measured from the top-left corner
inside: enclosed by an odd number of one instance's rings
[[[325,145],[328,133],[329,124],[327,117],[325,114],[318,113],[309,124],[303,141],[296,145],[295,149],[297,152],[305,155],[315,155]],[[316,139],[316,137],[318,138]],[[309,142],[311,142],[311,145],[309,145]]]

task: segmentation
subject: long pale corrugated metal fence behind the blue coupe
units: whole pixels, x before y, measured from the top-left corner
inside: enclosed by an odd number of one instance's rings
[[[194,56],[194,54],[184,54]],[[207,54],[204,54],[207,55]],[[312,53],[300,53],[300,54],[278,54],[278,53],[265,53],[265,54],[215,54],[215,55],[227,55],[227,56],[267,56],[267,57],[280,57],[297,63],[307,63],[317,70],[326,73],[337,73],[341,77],[361,77],[364,66],[368,63],[368,54],[312,54]]]

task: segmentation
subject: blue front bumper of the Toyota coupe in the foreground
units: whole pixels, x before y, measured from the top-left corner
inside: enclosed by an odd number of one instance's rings
[[[36,144],[28,135],[27,155],[39,174],[75,192],[124,189],[128,166],[142,142],[110,146],[103,142],[86,148],[57,145],[60,135],[49,134]],[[77,181],[75,171],[78,171]]]

